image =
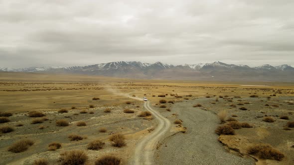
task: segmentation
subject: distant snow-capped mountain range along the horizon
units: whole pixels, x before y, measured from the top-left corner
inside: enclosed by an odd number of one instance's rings
[[[0,72],[36,72],[54,74],[87,74],[132,79],[202,80],[202,81],[266,81],[294,82],[294,68],[290,65],[247,65],[200,63],[195,65],[168,65],[141,62],[110,62],[89,66],[0,68]]]

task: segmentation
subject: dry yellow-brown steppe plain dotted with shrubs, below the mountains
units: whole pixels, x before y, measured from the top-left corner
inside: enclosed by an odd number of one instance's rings
[[[1,165],[294,164],[293,83],[0,72],[0,115]]]

